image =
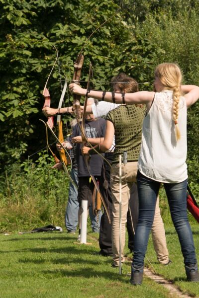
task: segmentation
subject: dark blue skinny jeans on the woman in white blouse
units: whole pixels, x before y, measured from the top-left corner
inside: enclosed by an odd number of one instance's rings
[[[144,265],[149,233],[153,224],[156,199],[161,182],[137,174],[139,219],[135,231],[133,265]],[[185,265],[197,263],[192,230],[187,217],[187,180],[164,183],[172,221],[178,233]]]

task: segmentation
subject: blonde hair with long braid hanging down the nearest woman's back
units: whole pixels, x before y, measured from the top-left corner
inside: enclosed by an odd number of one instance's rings
[[[178,126],[182,81],[181,70],[175,63],[162,63],[157,66],[155,76],[159,77],[164,85],[163,89],[173,90],[173,120],[175,123],[176,140],[179,141],[181,138]]]

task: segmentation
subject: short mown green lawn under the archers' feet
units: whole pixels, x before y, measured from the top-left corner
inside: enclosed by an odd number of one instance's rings
[[[192,224],[199,255],[199,224]],[[177,235],[166,227],[172,264],[157,263],[150,240],[146,266],[156,274],[173,280],[179,288],[199,297],[199,283],[186,282],[183,258]],[[141,287],[133,287],[130,262],[123,274],[111,268],[111,258],[102,257],[98,234],[88,232],[91,245],[75,244],[76,235],[66,232],[0,235],[0,298],[166,298],[168,291],[144,277]],[[128,253],[128,249],[125,249]],[[150,263],[149,263],[150,261]],[[175,297],[175,296],[172,296]]]

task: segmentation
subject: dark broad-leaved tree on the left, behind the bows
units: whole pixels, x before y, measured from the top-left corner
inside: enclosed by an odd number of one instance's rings
[[[56,45],[60,57],[60,74],[56,66],[49,81],[52,104],[57,106],[60,75],[62,79],[66,74],[72,78],[74,61],[86,38],[116,8],[108,0],[99,4],[86,0],[0,0],[0,121],[4,139],[0,145],[1,165],[36,151],[44,140],[38,119],[43,104],[41,90],[56,57],[52,45]],[[98,68],[98,78],[104,80],[106,74],[111,75],[113,63],[108,68],[106,65],[104,74],[101,62],[110,58],[115,40],[123,42],[125,36],[121,32],[128,34],[124,24],[116,26],[118,19],[120,15],[101,27],[86,45],[83,79],[90,61]]]

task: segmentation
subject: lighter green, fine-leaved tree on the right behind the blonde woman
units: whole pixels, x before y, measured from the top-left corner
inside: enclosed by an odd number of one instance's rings
[[[167,9],[159,13],[150,13],[142,24],[138,24],[135,34],[141,40],[148,38],[161,48],[154,52],[153,65],[163,62],[176,62],[183,71],[185,84],[199,85],[199,43],[198,22],[199,9],[180,10],[173,16]],[[188,170],[190,181],[199,183],[196,175],[199,171],[199,102],[188,110]]]

